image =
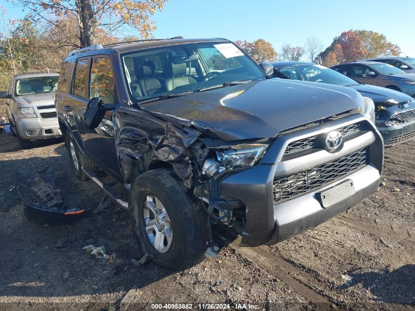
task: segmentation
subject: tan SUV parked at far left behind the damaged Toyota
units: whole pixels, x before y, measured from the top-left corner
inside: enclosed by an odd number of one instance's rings
[[[29,148],[31,141],[62,135],[56,117],[55,93],[58,73],[41,73],[14,76],[7,91],[6,113],[13,135],[22,148]]]

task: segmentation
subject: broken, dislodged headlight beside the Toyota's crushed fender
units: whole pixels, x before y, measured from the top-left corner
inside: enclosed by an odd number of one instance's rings
[[[210,177],[223,170],[251,167],[262,158],[267,147],[268,144],[244,143],[217,151],[216,159],[209,158],[204,162],[202,174]]]

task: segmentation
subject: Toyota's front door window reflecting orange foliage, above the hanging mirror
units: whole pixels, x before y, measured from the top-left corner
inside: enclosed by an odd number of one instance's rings
[[[115,103],[115,82],[110,58],[92,58],[89,81],[89,99],[101,97],[104,104]]]

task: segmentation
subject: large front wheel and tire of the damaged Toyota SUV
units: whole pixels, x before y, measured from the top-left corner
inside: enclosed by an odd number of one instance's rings
[[[129,211],[134,235],[155,264],[183,271],[203,260],[210,238],[207,215],[172,170],[139,175]]]

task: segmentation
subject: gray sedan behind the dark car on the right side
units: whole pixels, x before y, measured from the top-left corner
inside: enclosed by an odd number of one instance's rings
[[[377,61],[355,61],[331,67],[363,84],[383,86],[415,98],[415,74]]]

